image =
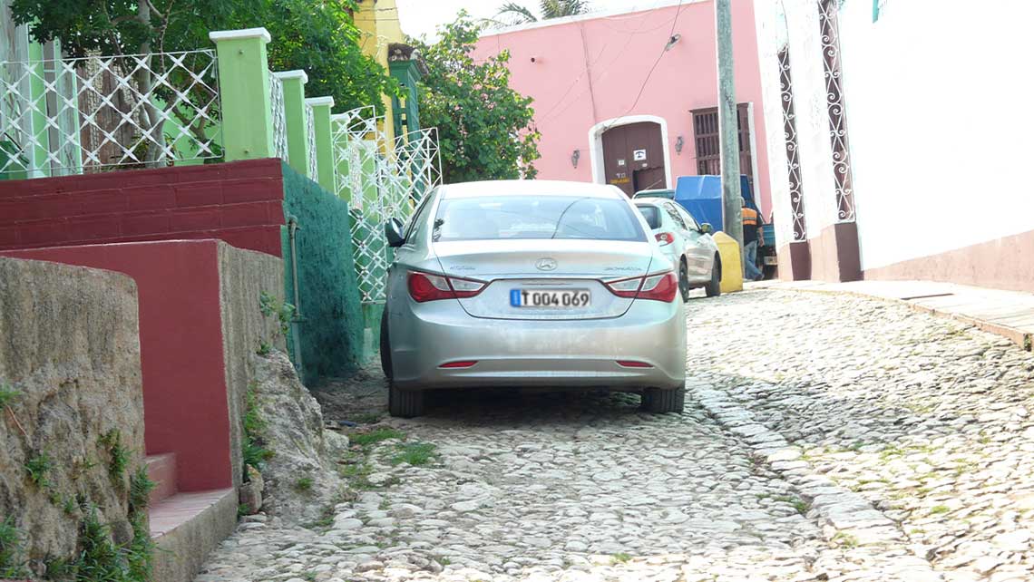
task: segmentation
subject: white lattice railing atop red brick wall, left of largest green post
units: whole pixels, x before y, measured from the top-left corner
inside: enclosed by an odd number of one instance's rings
[[[0,61],[0,175],[221,157],[214,51]]]

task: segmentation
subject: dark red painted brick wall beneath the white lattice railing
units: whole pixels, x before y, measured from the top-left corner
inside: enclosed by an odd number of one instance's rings
[[[0,182],[0,250],[221,239],[280,256],[279,159]]]

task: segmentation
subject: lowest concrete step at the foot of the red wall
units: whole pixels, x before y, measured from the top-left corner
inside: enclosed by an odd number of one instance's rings
[[[190,582],[205,558],[237,527],[237,490],[176,493],[151,506],[152,580]]]

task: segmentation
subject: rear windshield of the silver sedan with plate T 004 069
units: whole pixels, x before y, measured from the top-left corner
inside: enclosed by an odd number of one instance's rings
[[[629,204],[616,198],[566,195],[445,198],[438,205],[433,239],[485,241],[521,239],[646,240]]]

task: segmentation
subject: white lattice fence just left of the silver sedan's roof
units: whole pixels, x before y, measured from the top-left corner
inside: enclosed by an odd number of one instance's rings
[[[440,182],[437,132],[413,131],[388,144],[381,130],[384,118],[371,106],[336,115],[333,121],[335,189],[351,201],[359,290],[363,303],[384,303],[391,261],[384,225],[390,218],[407,220]]]

